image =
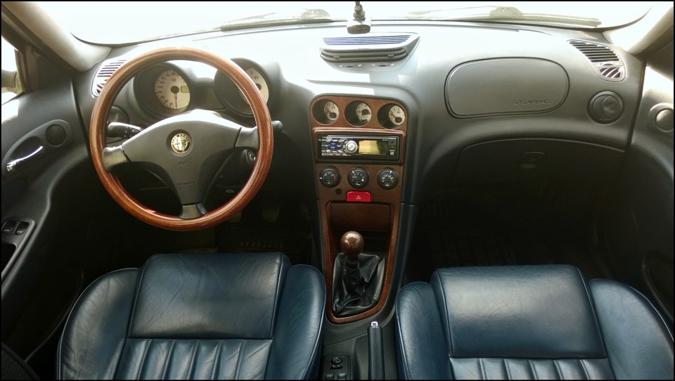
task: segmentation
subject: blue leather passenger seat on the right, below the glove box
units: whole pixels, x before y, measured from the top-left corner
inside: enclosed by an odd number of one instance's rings
[[[397,296],[399,377],[673,379],[648,299],[572,266],[437,270]]]

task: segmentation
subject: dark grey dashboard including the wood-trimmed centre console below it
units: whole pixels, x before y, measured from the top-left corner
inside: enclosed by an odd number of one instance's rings
[[[660,74],[600,32],[451,22],[383,23],[366,35],[335,25],[310,29],[267,27],[120,46],[75,86],[80,94],[100,88],[101,75],[166,46],[198,47],[239,65],[276,126],[262,192],[315,205],[309,218],[316,221],[328,289],[345,230],[371,232],[370,249],[387,258],[378,306],[366,315],[329,314],[333,323],[361,320],[391,302],[388,286],[406,261],[397,247],[409,239],[425,198],[483,184],[577,179],[603,186],[619,173],[634,128],[658,142],[657,150],[671,145],[672,129],[647,120],[672,108],[660,96],[644,96],[643,82],[663,82],[646,80]],[[80,99],[84,120],[95,99],[95,92]],[[195,109],[255,125],[229,78],[188,60],[138,72],[117,96],[110,121],[144,129]],[[124,138],[109,137],[108,144]],[[236,193],[254,163],[250,151],[229,160],[214,181],[212,203]],[[171,193],[158,193],[166,187],[152,176],[120,176],[146,205],[169,214],[176,209],[158,205]]]

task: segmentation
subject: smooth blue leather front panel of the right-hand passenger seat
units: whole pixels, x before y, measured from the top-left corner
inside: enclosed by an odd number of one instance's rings
[[[431,283],[453,357],[605,357],[586,281],[573,266],[440,269]]]

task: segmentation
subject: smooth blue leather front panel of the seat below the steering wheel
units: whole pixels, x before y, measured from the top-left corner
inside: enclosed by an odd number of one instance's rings
[[[143,266],[129,337],[269,339],[288,257],[159,254]]]

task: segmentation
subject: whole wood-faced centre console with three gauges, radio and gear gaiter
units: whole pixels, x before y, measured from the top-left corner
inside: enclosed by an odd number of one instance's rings
[[[309,112],[328,319],[359,321],[382,309],[390,290],[408,112],[398,101],[346,96],[320,96]],[[363,240],[358,252],[341,244],[352,232]],[[359,262],[360,284],[343,283],[343,268]]]

